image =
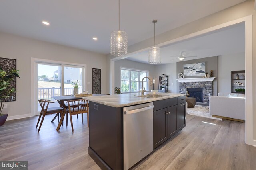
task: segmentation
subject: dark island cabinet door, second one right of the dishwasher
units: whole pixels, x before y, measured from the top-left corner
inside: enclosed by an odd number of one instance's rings
[[[177,105],[168,107],[167,108],[167,133],[168,138],[172,137],[176,133],[178,133],[178,125],[177,125],[177,119],[178,119],[178,113],[177,113]]]

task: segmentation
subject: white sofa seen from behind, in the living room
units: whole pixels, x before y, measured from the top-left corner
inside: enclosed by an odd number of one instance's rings
[[[245,95],[240,93],[218,93],[210,96],[210,114],[245,120]]]

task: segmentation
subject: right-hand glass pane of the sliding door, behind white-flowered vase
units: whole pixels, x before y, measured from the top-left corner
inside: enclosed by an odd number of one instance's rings
[[[78,87],[78,93],[82,93],[82,68],[65,67],[64,69],[64,94],[73,94],[74,87]],[[71,83],[73,82],[74,85]]]

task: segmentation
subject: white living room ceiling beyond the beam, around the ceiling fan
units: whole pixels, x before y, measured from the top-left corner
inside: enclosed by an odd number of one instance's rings
[[[193,39],[167,45],[160,49],[162,64],[176,63],[180,61],[178,59],[180,51],[185,51],[184,56],[197,56],[186,58],[186,60],[245,52],[244,23],[232,25],[231,27]],[[148,63],[148,51],[131,55],[126,59]]]

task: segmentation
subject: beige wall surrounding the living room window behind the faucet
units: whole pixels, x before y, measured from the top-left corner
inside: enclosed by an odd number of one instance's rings
[[[136,61],[131,61],[127,59],[118,60],[115,61],[115,87],[120,87],[120,67],[148,71],[148,77],[150,78],[151,81],[153,81],[153,78],[155,76],[155,66],[152,64],[138,63]],[[155,79],[158,78],[155,77]],[[156,89],[157,85],[154,87]],[[153,90],[153,86],[150,86],[149,84],[148,89]]]

